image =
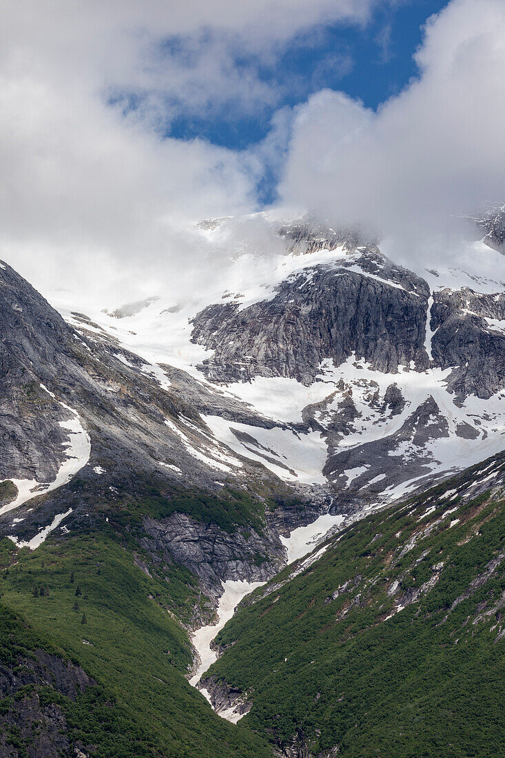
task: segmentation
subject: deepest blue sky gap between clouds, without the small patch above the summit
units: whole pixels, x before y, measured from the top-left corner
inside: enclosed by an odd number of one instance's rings
[[[199,137],[214,145],[243,150],[265,138],[274,111],[293,107],[327,87],[342,90],[375,109],[416,76],[412,56],[422,42],[424,24],[446,5],[447,0],[400,0],[394,6],[384,3],[364,26],[335,23],[297,35],[274,61],[263,64],[259,55],[236,55],[237,70],[255,67],[261,80],[282,93],[281,99],[252,114],[234,108],[187,113],[183,102],[178,102],[180,113],[173,117],[166,134],[177,139]],[[183,38],[165,44],[170,55],[191,64],[192,52]]]

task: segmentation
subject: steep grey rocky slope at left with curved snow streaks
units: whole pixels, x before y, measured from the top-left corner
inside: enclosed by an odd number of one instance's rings
[[[193,406],[213,412],[221,396],[201,390],[198,403],[186,401],[161,368],[84,317],[77,334],[11,268],[0,280],[0,534],[33,549],[54,530],[61,538],[134,511],[140,539],[187,565],[212,598],[221,581],[263,580],[280,567],[284,548],[265,511],[293,493],[212,437]],[[238,400],[226,414],[251,417]],[[237,529],[246,537],[232,539]]]

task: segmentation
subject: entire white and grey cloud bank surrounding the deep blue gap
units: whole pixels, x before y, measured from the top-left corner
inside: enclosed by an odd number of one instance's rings
[[[258,210],[268,171],[281,204],[367,224],[393,257],[457,255],[460,217],[505,196],[503,0],[452,0],[429,20],[419,77],[377,112],[328,89],[283,106],[260,75],[297,35],[364,25],[375,5],[6,0],[0,257],[97,298],[205,279],[225,253],[188,229]],[[181,112],[265,104],[279,106],[271,132],[246,151],[165,136]]]

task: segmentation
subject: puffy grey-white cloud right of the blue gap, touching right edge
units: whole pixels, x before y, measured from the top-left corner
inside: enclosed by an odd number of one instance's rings
[[[318,92],[297,113],[286,202],[365,222],[394,254],[438,255],[460,215],[505,196],[505,5],[453,0],[429,20],[416,80],[377,113]]]

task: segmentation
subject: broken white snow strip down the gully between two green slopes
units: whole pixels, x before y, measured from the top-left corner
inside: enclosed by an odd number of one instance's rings
[[[287,562],[292,563],[299,558],[303,558],[307,553],[312,553],[316,543],[328,533],[331,527],[343,522],[344,518],[344,515],[325,513],[325,515],[316,518],[312,524],[293,529],[289,537],[281,537],[281,542],[287,548]],[[211,648],[212,640],[218,634],[218,631],[234,615],[240,600],[246,597],[252,590],[256,590],[256,587],[261,587],[262,584],[265,584],[265,582],[242,580],[223,582],[224,593],[221,595],[217,608],[218,622],[214,625],[202,626],[202,628],[193,634],[193,647],[200,656],[200,665],[196,669],[195,675],[190,679],[190,684],[193,684],[193,687],[196,687],[202,674],[218,659],[217,654]],[[200,691],[210,702],[209,693],[205,689]],[[219,715],[234,723],[240,719],[238,713],[223,712]]]

